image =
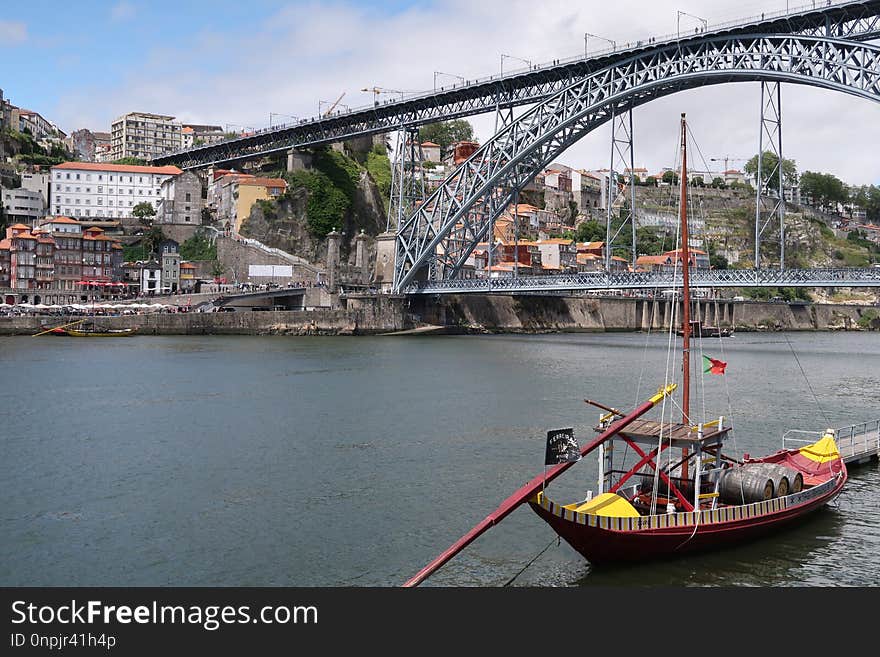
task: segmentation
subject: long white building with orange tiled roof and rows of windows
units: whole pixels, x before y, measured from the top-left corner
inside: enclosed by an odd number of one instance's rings
[[[52,167],[50,210],[82,219],[131,217],[138,203],[161,203],[162,183],[182,172],[175,166],[142,167],[103,162],[65,162]]]

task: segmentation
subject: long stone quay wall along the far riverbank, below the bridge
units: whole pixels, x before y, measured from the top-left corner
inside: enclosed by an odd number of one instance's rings
[[[445,333],[543,333],[662,330],[672,311],[671,301],[640,298],[352,295],[335,309],[120,314],[96,320],[108,329],[134,328],[142,335],[375,335],[426,327]],[[694,303],[694,312],[707,325],[734,331],[880,328],[878,309],[870,305],[705,300]],[[58,315],[0,316],[0,335],[33,335],[66,321]]]

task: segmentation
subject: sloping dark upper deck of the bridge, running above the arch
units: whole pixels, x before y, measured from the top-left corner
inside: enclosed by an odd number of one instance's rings
[[[663,51],[681,43],[690,48],[719,35],[733,37],[745,34],[802,34],[867,41],[880,36],[880,0],[835,3],[833,6],[805,7],[784,16],[767,20],[743,20],[704,32],[689,39],[641,41],[630,48],[587,58],[557,60],[557,63],[536,67],[514,75],[491,76],[452,90],[411,96],[406,100],[379,106],[355,109],[344,114],[303,120],[295,125],[258,131],[248,137],[230,139],[217,144],[198,146],[154,158],[158,166],[175,164],[183,169],[197,169],[217,164],[230,164],[287,151],[343,141],[353,137],[393,132],[401,125],[417,127],[436,121],[482,114],[502,106],[532,104],[558,93],[565,87],[599,69]]]

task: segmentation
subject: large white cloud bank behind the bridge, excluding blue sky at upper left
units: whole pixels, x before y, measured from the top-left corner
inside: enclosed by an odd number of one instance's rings
[[[748,0],[680,4],[710,24],[785,8],[784,1],[778,6]],[[74,118],[90,121],[86,125],[92,129],[107,130],[114,117],[129,111],[172,114],[194,123],[263,127],[270,112],[314,116],[320,101],[332,102],[343,92],[341,103],[354,109],[372,104],[372,95],[361,92],[363,88],[427,91],[433,87],[434,71],[469,80],[497,75],[502,53],[534,63],[582,55],[586,32],[618,44],[675,32],[675,11],[661,5],[640,0],[618,0],[610,8],[594,1],[438,0],[396,13],[326,2],[288,5],[236,32],[203,32],[185,45],[157,46],[115,88],[88,88],[84,81],[80,92],[60,99],[56,116],[71,130],[83,125],[65,122]],[[692,27],[687,17],[681,20],[682,29]],[[599,39],[589,42],[590,51],[603,45]],[[505,60],[504,69],[521,65]],[[442,76],[437,82],[455,80]],[[659,170],[673,164],[683,111],[707,161],[751,157],[758,149],[759,94],[757,83],[715,85],[638,108],[636,166]],[[95,97],[107,102],[96,105]],[[794,158],[802,171],[833,173],[851,184],[875,183],[880,179],[880,160],[874,155],[880,136],[873,130],[880,119],[878,107],[839,93],[784,86],[786,157]],[[494,116],[469,120],[481,141],[491,137]],[[584,168],[608,166],[609,139],[606,125],[559,160]],[[731,166],[742,164],[731,161]]]

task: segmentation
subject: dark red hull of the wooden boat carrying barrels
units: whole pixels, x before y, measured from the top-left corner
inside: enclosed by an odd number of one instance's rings
[[[663,520],[662,516],[655,519],[669,522],[681,520],[675,527],[649,527],[646,529],[618,530],[590,524],[589,518],[575,514],[569,510],[540,497],[533,498],[529,505],[541,518],[549,524],[569,545],[593,564],[645,561],[698,552],[717,550],[737,543],[745,542],[790,526],[807,515],[820,510],[832,502],[841,492],[846,483],[846,471],[841,473],[833,485],[827,490],[817,491],[809,495],[809,491],[789,496],[799,503],[787,504],[786,498],[777,498],[749,505],[757,511],[750,517],[740,517],[726,521],[712,521],[712,512],[700,512],[700,521],[693,522],[695,514],[673,514],[676,519]],[[806,498],[806,499],[805,499]],[[763,505],[763,506],[761,506]],[[745,508],[745,507],[743,507]],[[717,512],[716,512],[717,513]],[[731,515],[728,512],[726,515]],[[733,515],[736,515],[733,513]],[[596,518],[592,516],[591,518]],[[691,522],[686,522],[690,519]],[[596,522],[613,525],[615,521],[638,519],[605,518]],[[644,519],[649,524],[648,519]]]

